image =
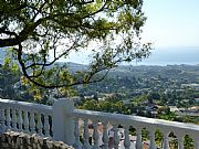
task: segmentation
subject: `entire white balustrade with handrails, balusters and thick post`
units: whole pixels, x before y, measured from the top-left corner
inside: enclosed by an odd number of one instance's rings
[[[50,118],[52,118],[52,124],[50,124]],[[124,129],[123,137],[119,135],[118,126]],[[136,134],[134,142],[129,136],[132,127],[135,128]],[[54,140],[62,140],[75,149],[143,149],[142,130],[145,128],[148,131],[149,149],[169,149],[170,132],[177,137],[178,149],[184,149],[186,135],[193,140],[195,149],[199,149],[199,126],[197,125],[75,109],[73,102],[64,98],[55,102],[52,107],[0,99],[0,128],[1,131],[13,129],[29,134],[36,132],[46,137],[53,134]],[[161,146],[155,141],[156,130],[163,134]],[[109,136],[111,132],[113,136]]]

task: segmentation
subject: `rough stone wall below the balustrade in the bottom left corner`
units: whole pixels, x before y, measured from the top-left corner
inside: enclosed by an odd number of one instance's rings
[[[62,141],[38,135],[9,131],[0,135],[0,149],[74,149]]]

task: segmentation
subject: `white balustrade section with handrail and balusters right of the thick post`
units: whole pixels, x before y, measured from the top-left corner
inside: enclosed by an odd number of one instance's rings
[[[91,110],[82,110],[82,109],[74,109],[73,117],[85,119],[88,118],[91,121],[96,121],[101,124],[109,124],[113,126],[112,130],[114,131],[114,148],[122,148],[121,146],[115,147],[115,145],[119,143],[118,140],[118,132],[117,126],[121,125],[125,128],[124,131],[124,148],[125,149],[143,149],[143,140],[142,140],[142,129],[147,128],[149,132],[149,149],[157,149],[157,145],[155,141],[155,131],[158,129],[163,134],[163,149],[169,149],[169,134],[174,132],[177,137],[180,132],[178,138],[178,148],[184,148],[184,137],[189,135],[192,138],[195,143],[195,149],[198,149],[199,142],[199,126],[193,124],[184,124],[184,123],[176,123],[176,121],[168,121],[163,119],[154,119],[154,118],[145,118],[139,116],[129,116],[129,115],[121,115],[121,114],[109,114],[109,113],[101,113],[101,111],[91,111]],[[137,139],[136,145],[130,146],[129,141],[129,126],[133,126],[136,129]],[[85,129],[85,128],[84,128]],[[94,127],[95,129],[95,127]],[[95,134],[96,135],[96,134]],[[106,135],[106,134],[105,134]],[[117,136],[116,136],[117,135]],[[106,138],[106,137],[105,137]],[[93,149],[97,148],[95,143],[93,143]],[[107,142],[105,141],[104,147],[107,148]]]

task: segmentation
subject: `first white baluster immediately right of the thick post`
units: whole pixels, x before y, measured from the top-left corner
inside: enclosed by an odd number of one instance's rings
[[[73,147],[75,149],[82,149],[82,143],[80,141],[80,128],[78,128],[78,118],[74,119],[74,125],[75,125],[75,130],[74,130],[74,137],[75,137],[75,142],[73,145]]]

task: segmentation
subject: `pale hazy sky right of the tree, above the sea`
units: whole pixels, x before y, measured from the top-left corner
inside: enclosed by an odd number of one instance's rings
[[[199,0],[144,0],[143,39],[156,47],[199,45]]]

